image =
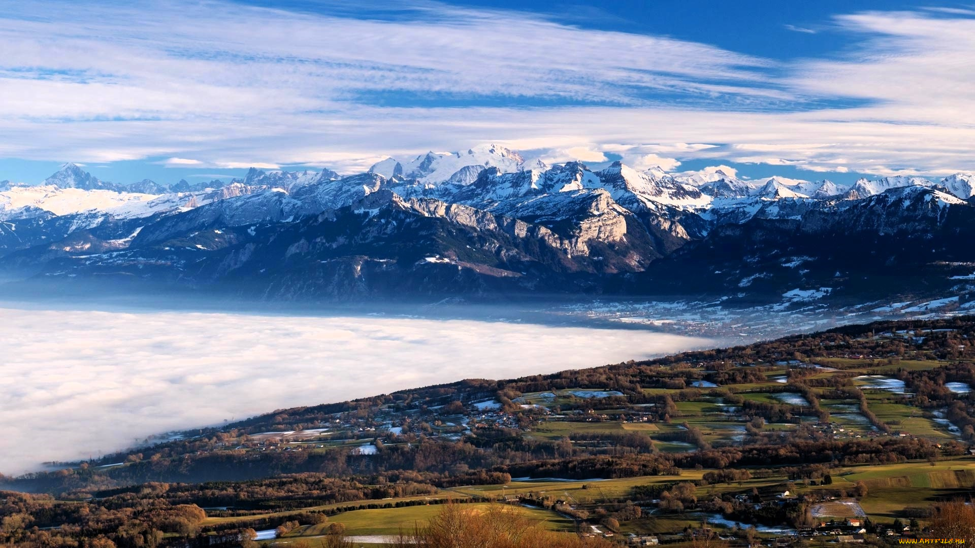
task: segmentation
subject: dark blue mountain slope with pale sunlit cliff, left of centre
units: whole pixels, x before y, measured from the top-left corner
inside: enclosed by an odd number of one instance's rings
[[[254,196],[248,198],[237,201],[253,203]],[[278,298],[584,292],[601,275],[641,269],[649,261],[641,254],[650,248],[640,223],[604,192],[594,198],[585,212],[603,208],[598,214],[608,215],[561,233],[388,190],[297,221],[264,219],[221,230],[215,226],[228,212],[217,206],[234,202],[226,200],[141,229],[124,252],[59,255],[48,270],[72,277],[151,276],[160,283]],[[175,224],[178,217],[184,220]],[[172,268],[157,268],[164,263]]]

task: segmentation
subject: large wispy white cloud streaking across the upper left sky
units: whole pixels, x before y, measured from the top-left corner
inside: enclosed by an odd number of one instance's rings
[[[3,64],[39,67],[8,75],[0,113],[84,119],[335,110],[376,91],[626,103],[623,86],[707,94],[712,88],[704,86],[718,81],[751,86],[761,78],[753,69],[767,64],[703,44],[446,5],[424,14],[436,17],[409,21],[180,0],[95,5],[62,19],[52,15],[59,7],[12,6],[0,20]]]

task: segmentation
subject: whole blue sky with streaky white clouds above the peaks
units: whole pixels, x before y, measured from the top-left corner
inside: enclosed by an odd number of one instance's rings
[[[499,142],[739,176],[975,169],[975,8],[0,0],[0,179],[364,171]]]

